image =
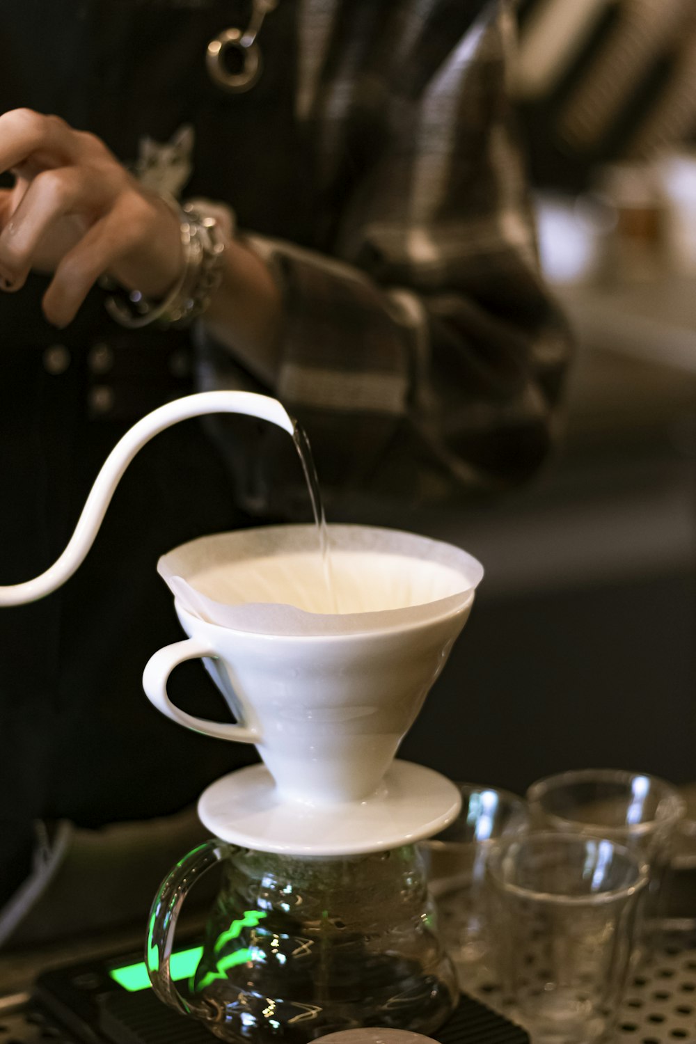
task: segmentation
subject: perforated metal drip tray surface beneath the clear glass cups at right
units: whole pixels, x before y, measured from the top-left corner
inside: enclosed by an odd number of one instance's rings
[[[489,976],[474,978],[466,989],[509,1017],[510,1005]],[[677,1041],[696,1044],[696,928],[666,935],[630,980],[610,1044]]]

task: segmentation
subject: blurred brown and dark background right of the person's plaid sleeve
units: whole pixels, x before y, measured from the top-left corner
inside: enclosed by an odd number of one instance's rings
[[[511,90],[576,358],[557,458],[436,536],[486,577],[403,757],[696,779],[696,3],[522,0]],[[452,720],[464,722],[453,729]]]

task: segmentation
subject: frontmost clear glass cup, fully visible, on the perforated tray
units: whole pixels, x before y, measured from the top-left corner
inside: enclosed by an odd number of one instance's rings
[[[606,838],[544,831],[495,846],[486,882],[498,975],[533,1044],[610,1031],[647,881],[640,857]]]

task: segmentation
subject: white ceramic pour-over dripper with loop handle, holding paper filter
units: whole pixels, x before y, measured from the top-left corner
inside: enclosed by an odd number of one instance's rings
[[[370,852],[428,836],[458,811],[448,780],[393,758],[466,621],[481,566],[413,533],[329,532],[340,613],[330,608],[314,526],[201,538],[160,561],[189,638],[151,658],[147,695],[188,728],[254,743],[264,761],[201,797],[198,814],[223,840]],[[170,703],[170,672],[197,657],[239,723]]]

